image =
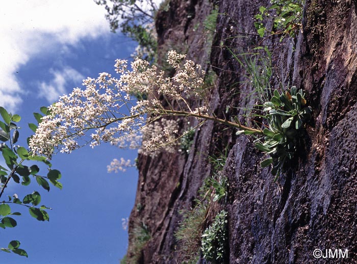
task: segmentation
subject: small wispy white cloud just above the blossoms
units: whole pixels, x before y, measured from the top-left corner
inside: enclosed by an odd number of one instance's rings
[[[50,69],[49,72],[54,76],[53,80],[48,83],[41,82],[39,85],[39,97],[46,98],[49,103],[55,102],[59,96],[67,92],[69,82],[80,83],[84,79],[81,73],[69,66],[62,70]]]

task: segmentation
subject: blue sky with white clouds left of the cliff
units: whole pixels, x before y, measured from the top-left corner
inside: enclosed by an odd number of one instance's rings
[[[22,117],[22,140],[31,135],[27,123],[35,122],[32,113],[42,105],[81,87],[87,76],[115,74],[115,59],[130,59],[136,43],[111,33],[104,14],[104,8],[90,0],[2,5],[0,105]],[[23,215],[14,217],[15,228],[0,230],[0,247],[19,240],[29,258],[0,252],[0,262],[118,263],[127,247],[121,219],[133,208],[138,177],[133,168],[107,173],[111,160],[120,157],[134,160],[136,151],[104,144],[59,153],[52,163],[62,173],[62,190],[52,187],[47,193],[36,182],[29,187],[11,184],[6,195],[23,198],[37,190],[41,204],[53,210],[48,212],[49,222],[39,222],[26,209],[13,206]]]

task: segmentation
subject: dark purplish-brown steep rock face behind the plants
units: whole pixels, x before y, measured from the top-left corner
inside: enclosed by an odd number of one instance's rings
[[[269,1],[172,0],[157,15],[159,64],[176,49],[217,75],[210,105],[219,117],[257,102],[254,87],[230,50],[242,52],[262,39],[253,16]],[[218,8],[214,32],[205,19]],[[253,139],[234,129],[206,122],[196,130],[191,151],[139,156],[139,182],[130,229],[144,222],[151,239],[140,263],[181,263],[174,232],[198,189],[210,176],[207,157],[230,149],[224,175],[229,190],[228,250],[230,263],[357,263],[357,4],[352,0],[307,0],[302,31],[295,39],[264,40],[272,50],[276,76],[271,84],[304,89],[313,108],[303,148],[295,164],[277,183]],[[266,27],[269,27],[267,21]],[[270,25],[271,27],[271,25]],[[239,84],[239,85],[237,85]],[[227,114],[229,115],[229,114]],[[182,126],[188,127],[185,121]],[[194,123],[195,120],[192,120]],[[217,209],[218,210],[218,209]],[[210,221],[209,218],[207,220]],[[128,255],[132,254],[130,235]],[[348,258],[317,260],[315,249],[348,250]],[[204,262],[200,259],[199,262]]]

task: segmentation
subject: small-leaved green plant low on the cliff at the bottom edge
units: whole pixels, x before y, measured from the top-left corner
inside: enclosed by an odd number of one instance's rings
[[[202,234],[203,258],[212,263],[224,263],[227,249],[227,212],[219,212]]]

